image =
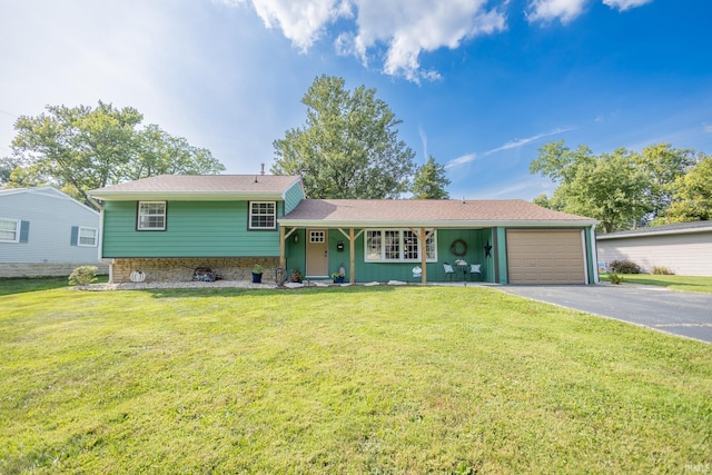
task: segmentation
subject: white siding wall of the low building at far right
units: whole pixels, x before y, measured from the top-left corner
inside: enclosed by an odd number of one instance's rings
[[[599,261],[630,259],[652,273],[668,267],[679,276],[712,276],[712,231],[600,239]]]

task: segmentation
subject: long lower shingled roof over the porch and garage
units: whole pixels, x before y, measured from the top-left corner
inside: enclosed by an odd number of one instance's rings
[[[279,220],[330,227],[583,227],[597,221],[542,208],[523,199],[304,199]]]

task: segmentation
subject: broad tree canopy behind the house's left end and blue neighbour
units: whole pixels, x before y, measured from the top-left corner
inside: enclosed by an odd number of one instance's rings
[[[0,160],[7,187],[51,185],[90,206],[87,191],[161,174],[217,174],[225,167],[156,125],[139,128],[138,110],[99,101],[96,108],[48,106],[20,117],[12,157]],[[11,170],[9,176],[7,170]]]

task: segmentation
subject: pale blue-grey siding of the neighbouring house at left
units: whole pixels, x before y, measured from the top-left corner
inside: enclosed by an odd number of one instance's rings
[[[99,230],[99,214],[61,191],[49,187],[2,190],[0,217],[30,222],[28,243],[0,243],[0,265],[98,263],[98,247],[71,246],[71,228]]]

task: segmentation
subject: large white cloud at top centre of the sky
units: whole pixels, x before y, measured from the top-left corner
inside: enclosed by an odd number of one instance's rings
[[[502,12],[486,9],[487,0],[222,0],[231,6],[247,1],[267,28],[280,28],[301,51],[332,23],[356,16],[355,30],[342,31],[336,38],[337,52],[356,56],[364,65],[369,63],[372,53],[378,55],[377,62],[383,63],[386,75],[414,82],[441,77],[422,68],[423,52],[455,49],[463,41],[506,26]],[[507,3],[505,0],[503,8]]]

